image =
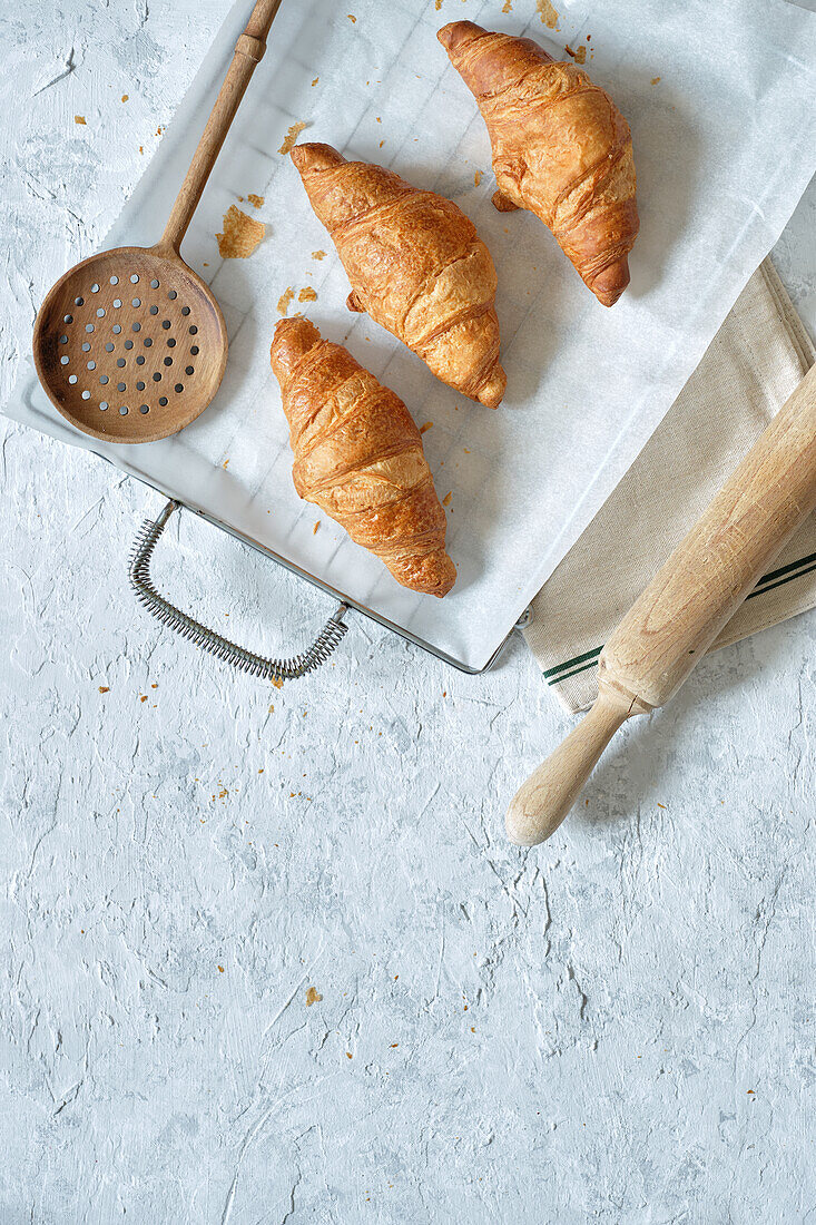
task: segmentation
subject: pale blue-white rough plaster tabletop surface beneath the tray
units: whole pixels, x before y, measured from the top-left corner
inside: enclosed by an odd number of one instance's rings
[[[4,391],[219,17],[0,7]],[[811,187],[776,252],[811,332],[814,234]],[[158,501],[0,429],[2,1225],[809,1219],[812,617],[703,660],[519,853],[565,730],[523,647],[469,679],[355,619],[311,680],[233,676],[134,605]],[[189,517],[158,572],[267,649],[326,610]]]

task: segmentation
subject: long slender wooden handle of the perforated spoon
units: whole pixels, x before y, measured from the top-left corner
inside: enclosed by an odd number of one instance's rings
[[[246,29],[235,44],[235,54],[227,70],[216,104],[210,113],[207,126],[201,134],[198,147],[190,163],[181,190],[175,197],[173,211],[164,227],[164,234],[158,246],[175,251],[178,255],[181,240],[198,207],[201,192],[205,189],[210,172],[221,153],[227,132],[230,129],[235,111],[250,83],[255,65],[263,59],[266,37],[272,20],[281,7],[282,0],[257,0]]]

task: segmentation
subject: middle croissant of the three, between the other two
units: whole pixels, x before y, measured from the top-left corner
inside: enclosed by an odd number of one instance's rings
[[[451,200],[330,145],[295,145],[292,160],[352,282],[349,309],[368,311],[442,382],[496,408],[507,382],[496,270],[473,222]]]

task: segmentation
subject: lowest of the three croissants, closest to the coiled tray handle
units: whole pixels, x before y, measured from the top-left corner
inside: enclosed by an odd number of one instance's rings
[[[271,359],[300,497],[376,554],[403,587],[450,592],[456,566],[445,551],[447,518],[399,397],[305,318],[281,320]]]

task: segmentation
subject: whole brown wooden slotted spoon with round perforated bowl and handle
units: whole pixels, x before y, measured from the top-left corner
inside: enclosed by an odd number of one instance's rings
[[[179,247],[281,2],[257,0],[161,241],[92,255],[60,277],[39,309],[37,374],[83,434],[154,442],[200,417],[218,391],[224,317]]]

